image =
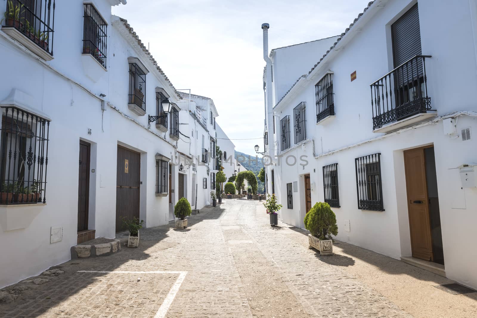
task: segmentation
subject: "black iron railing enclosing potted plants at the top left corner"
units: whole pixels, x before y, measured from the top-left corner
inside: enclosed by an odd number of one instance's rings
[[[55,0],[7,0],[4,28],[15,28],[53,55]]]

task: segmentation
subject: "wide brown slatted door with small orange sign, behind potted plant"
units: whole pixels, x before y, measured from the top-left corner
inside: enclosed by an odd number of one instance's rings
[[[125,229],[122,219],[139,218],[141,154],[118,146],[116,173],[116,232]]]

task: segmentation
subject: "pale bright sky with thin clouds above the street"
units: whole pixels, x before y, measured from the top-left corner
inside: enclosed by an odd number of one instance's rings
[[[128,21],[176,89],[214,100],[235,149],[263,148],[262,23],[274,48],[339,35],[369,0],[128,0]],[[316,61],[325,52],[317,52]],[[310,65],[310,68],[313,65]],[[237,140],[249,139],[249,140]],[[260,149],[263,151],[263,149]]]

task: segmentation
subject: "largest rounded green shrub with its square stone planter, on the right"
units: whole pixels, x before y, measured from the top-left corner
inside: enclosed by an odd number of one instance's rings
[[[331,235],[338,235],[336,215],[328,203],[316,203],[304,219],[305,229],[309,230],[308,248],[316,248],[320,255],[333,254]]]

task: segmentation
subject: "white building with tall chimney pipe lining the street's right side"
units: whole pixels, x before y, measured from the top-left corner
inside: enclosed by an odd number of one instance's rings
[[[475,1],[376,0],[338,39],[270,55],[262,26],[283,222],[329,202],[337,239],[477,288],[476,17]]]

